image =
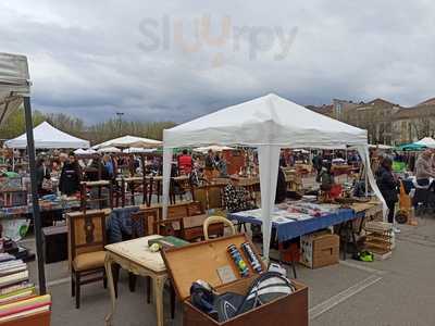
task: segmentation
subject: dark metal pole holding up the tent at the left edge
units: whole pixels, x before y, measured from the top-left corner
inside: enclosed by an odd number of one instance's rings
[[[41,231],[41,217],[39,213],[38,189],[36,181],[36,162],[35,162],[35,142],[34,142],[34,127],[32,123],[32,106],[30,98],[24,98],[24,114],[26,118],[26,134],[27,134],[27,153],[28,165],[30,168],[30,185],[32,185],[32,205],[35,224],[35,238],[36,238],[36,255],[38,258],[38,278],[39,278],[39,293],[45,294],[46,288],[46,271],[44,267],[44,252],[42,252],[42,231]]]

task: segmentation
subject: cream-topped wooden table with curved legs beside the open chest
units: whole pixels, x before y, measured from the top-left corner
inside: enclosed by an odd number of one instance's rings
[[[157,325],[163,325],[163,287],[167,278],[167,273],[160,252],[148,250],[148,240],[156,238],[161,238],[161,236],[148,236],[105,246],[104,266],[111,299],[110,312],[105,316],[107,325],[111,325],[115,311],[115,290],[112,275],[112,264],[114,263],[136,275],[151,277],[156,299]]]

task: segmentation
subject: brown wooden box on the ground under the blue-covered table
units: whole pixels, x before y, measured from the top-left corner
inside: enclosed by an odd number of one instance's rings
[[[339,237],[325,231],[300,237],[300,263],[310,268],[338,263]]]

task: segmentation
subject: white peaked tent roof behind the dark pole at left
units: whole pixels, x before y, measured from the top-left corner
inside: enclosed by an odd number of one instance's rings
[[[89,141],[76,138],[63,133],[48,122],[44,122],[34,128],[35,148],[88,148]],[[14,139],[8,140],[4,145],[9,148],[26,148],[27,136],[23,134]]]

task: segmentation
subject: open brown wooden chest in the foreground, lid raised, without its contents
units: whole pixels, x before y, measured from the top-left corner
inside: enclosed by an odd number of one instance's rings
[[[227,291],[239,294],[247,293],[249,286],[258,277],[258,274],[248,266],[250,276],[241,278],[232,258],[226,252],[226,248],[229,244],[235,244],[239,248],[246,241],[256,251],[254,246],[245,235],[235,235],[162,252],[175,291],[183,301],[184,326],[308,326],[308,288],[297,281],[294,281],[297,288],[294,293],[263,304],[224,323],[216,322],[191,304],[189,289],[197,279],[206,280],[220,293]],[[244,260],[247,261],[245,254],[243,252],[241,254]],[[258,255],[257,251],[256,254]],[[217,274],[217,268],[223,266],[231,266],[236,276],[235,281],[223,284]],[[262,266],[265,269],[263,263]]]

